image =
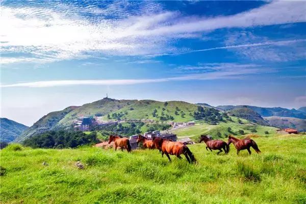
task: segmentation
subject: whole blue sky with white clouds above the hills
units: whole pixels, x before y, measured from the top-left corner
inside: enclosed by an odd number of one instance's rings
[[[1,1],[1,117],[106,96],[306,106],[304,1]]]

